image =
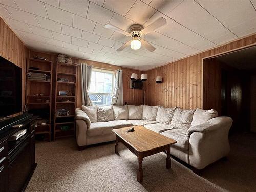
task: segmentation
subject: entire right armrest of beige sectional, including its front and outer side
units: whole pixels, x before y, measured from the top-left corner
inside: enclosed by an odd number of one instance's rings
[[[230,150],[228,133],[232,125],[230,117],[216,117],[209,121],[190,127],[188,163],[197,169],[225,157]]]

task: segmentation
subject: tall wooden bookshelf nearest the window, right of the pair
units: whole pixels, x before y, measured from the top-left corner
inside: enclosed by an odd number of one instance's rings
[[[78,64],[76,63],[56,64],[53,140],[75,134],[77,72]],[[58,78],[67,79],[67,81],[58,81]],[[59,95],[59,91],[67,91],[67,95]],[[69,110],[69,114],[57,116],[58,109]]]

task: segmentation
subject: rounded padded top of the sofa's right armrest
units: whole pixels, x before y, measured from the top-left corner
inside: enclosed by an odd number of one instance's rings
[[[230,129],[233,120],[230,117],[215,117],[203,124],[190,127],[187,130],[186,137],[189,138],[194,132],[208,133],[219,129]]]

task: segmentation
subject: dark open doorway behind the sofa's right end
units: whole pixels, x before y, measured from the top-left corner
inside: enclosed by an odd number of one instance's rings
[[[256,132],[256,46],[203,62],[203,108],[233,119],[230,132]]]

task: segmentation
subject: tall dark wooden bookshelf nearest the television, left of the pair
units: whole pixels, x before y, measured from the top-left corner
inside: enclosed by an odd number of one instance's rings
[[[30,69],[31,67],[38,69]],[[52,71],[52,61],[33,58],[27,60],[26,104],[28,112],[39,116],[36,119],[35,134],[44,135],[45,139],[49,141],[51,141]],[[50,76],[50,80],[29,80],[29,72],[46,74]],[[46,125],[41,125],[42,122],[45,122]]]

